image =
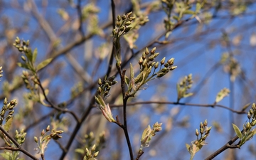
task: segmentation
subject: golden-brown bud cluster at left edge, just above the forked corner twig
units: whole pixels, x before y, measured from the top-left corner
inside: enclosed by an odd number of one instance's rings
[[[6,122],[8,122],[11,117],[13,117],[14,114],[14,107],[17,105],[17,100],[11,100],[11,102],[7,102],[7,98],[4,98],[4,106],[1,109],[0,112],[0,125],[3,124],[4,119]],[[8,112],[8,115],[5,116],[6,112]]]

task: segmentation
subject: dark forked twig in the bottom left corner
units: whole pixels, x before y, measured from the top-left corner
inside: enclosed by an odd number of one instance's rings
[[[4,149],[9,149],[12,151],[21,151],[23,154],[26,154],[27,156],[31,157],[31,159],[38,160],[35,156],[30,154],[28,151],[21,148],[21,146],[18,144],[18,142],[16,142],[16,140],[13,137],[11,137],[10,134],[8,132],[6,132],[6,130],[4,130],[4,128],[2,126],[0,126],[0,130],[1,130],[1,132],[3,132],[6,135],[6,137],[8,137],[11,140],[11,142],[13,142],[18,147],[18,148],[4,147]],[[3,147],[1,147],[1,149],[3,149]]]

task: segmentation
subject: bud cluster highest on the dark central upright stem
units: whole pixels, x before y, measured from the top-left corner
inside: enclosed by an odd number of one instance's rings
[[[115,38],[119,38],[123,34],[129,32],[132,27],[129,25],[132,23],[132,21],[135,19],[134,16],[132,16],[132,12],[129,12],[128,14],[125,14],[123,16],[117,16],[117,22],[116,26],[113,29],[113,35]]]

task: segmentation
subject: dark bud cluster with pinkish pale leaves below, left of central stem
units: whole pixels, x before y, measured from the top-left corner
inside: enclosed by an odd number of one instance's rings
[[[95,95],[95,101],[97,103],[97,106],[100,107],[102,114],[110,122],[115,122],[115,120],[112,117],[110,106],[108,104],[106,105],[104,101],[109,96],[111,86],[116,83],[117,83],[117,81],[114,80],[114,76],[112,76],[110,78],[107,78],[107,76],[105,76],[103,81],[101,79],[99,79],[99,81],[98,81],[99,87],[97,88],[97,93]]]

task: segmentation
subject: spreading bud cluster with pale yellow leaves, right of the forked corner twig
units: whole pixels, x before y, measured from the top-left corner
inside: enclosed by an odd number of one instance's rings
[[[58,140],[62,138],[62,136],[60,136],[60,134],[62,133],[63,133],[63,130],[52,129],[50,131],[50,126],[48,125],[48,127],[46,127],[46,130],[45,129],[42,130],[41,137],[39,137],[39,141],[38,141],[38,137],[34,137],[34,141],[38,144],[38,149],[40,149],[41,154],[45,153],[46,147],[50,142],[50,139]]]

